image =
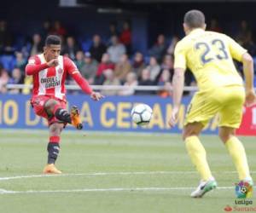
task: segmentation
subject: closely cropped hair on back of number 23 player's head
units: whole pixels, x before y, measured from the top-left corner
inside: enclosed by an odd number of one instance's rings
[[[197,9],[189,10],[184,15],[184,23],[190,28],[199,28],[205,24],[205,15]]]

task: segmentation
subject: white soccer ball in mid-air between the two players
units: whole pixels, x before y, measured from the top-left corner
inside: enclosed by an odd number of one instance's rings
[[[138,104],[132,108],[131,118],[137,125],[148,124],[152,118],[152,109],[147,104]]]

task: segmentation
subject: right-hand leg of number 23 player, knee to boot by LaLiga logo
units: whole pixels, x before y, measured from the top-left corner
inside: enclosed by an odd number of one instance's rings
[[[253,179],[250,176],[249,166],[247,163],[247,154],[245,149],[235,135],[235,129],[230,127],[220,127],[219,137],[224,142],[225,147],[229,150],[230,156],[236,170],[238,172],[239,180],[238,187],[245,187],[244,193],[238,193],[238,198],[250,198],[253,195]],[[240,197],[241,196],[241,197]]]

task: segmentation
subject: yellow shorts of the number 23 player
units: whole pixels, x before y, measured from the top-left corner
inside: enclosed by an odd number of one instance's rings
[[[244,101],[245,90],[241,86],[199,91],[189,104],[184,125],[201,122],[205,126],[218,113],[218,126],[239,128]]]

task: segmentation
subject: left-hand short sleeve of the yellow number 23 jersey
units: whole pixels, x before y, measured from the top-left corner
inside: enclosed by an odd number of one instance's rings
[[[182,42],[178,42],[174,49],[174,68],[186,69],[186,49]]]

